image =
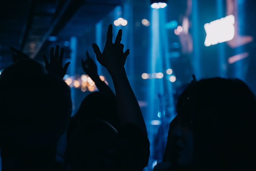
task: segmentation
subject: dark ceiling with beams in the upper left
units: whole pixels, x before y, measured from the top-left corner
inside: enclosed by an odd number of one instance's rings
[[[49,37],[82,35],[121,0],[9,0],[0,2],[0,69],[10,65],[10,46],[31,58],[49,48]]]

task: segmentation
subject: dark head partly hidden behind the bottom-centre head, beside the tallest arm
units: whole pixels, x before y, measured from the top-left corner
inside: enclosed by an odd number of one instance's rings
[[[75,119],[81,123],[90,119],[100,119],[110,123],[116,129],[120,127],[116,98],[105,92],[93,92],[82,101]]]

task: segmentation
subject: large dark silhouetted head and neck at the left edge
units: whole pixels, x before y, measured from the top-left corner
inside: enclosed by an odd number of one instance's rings
[[[2,72],[0,91],[3,162],[7,156],[25,160],[28,155],[24,153],[34,153],[30,156],[34,160],[46,158],[44,152],[54,155],[57,140],[71,115],[67,84],[48,75],[43,66],[33,60],[18,61]]]

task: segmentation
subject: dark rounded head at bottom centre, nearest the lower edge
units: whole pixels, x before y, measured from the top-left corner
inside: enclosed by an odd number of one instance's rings
[[[70,135],[66,161],[74,171],[115,170],[117,131],[103,120],[88,120]]]

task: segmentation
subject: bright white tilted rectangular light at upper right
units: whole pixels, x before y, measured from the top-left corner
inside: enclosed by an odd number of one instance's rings
[[[206,37],[205,46],[211,46],[222,42],[227,42],[234,38],[234,21],[233,15],[214,20],[204,25]]]

